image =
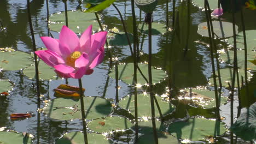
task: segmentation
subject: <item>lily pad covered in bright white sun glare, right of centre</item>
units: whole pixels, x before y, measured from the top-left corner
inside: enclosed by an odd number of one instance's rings
[[[193,105],[199,105],[204,108],[216,107],[215,92],[208,89],[185,89],[180,99],[189,100]],[[219,97],[220,104],[226,104],[228,98]]]

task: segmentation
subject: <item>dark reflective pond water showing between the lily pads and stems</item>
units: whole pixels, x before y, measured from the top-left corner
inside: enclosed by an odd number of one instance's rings
[[[176,2],[176,11],[181,7],[181,1]],[[83,5],[79,5],[78,1],[69,0],[68,10],[85,9]],[[125,23],[127,26],[127,31],[132,33],[132,14],[131,14],[131,2],[125,0],[117,0],[115,5],[123,14]],[[170,27],[172,28],[172,2],[168,3],[169,6],[169,16],[170,16]],[[49,0],[49,13],[55,14],[63,11],[64,4],[62,1]],[[136,18],[138,22],[143,22],[144,14],[139,15],[139,9],[136,8]],[[179,11],[181,13],[181,11]],[[120,17],[117,10],[113,6],[100,11],[101,22],[108,26],[108,29],[117,27],[120,31],[123,31],[123,26],[120,21]],[[254,11],[246,11],[245,21],[249,23],[246,26],[246,30],[256,29],[256,19],[251,19],[250,17],[255,17]],[[40,36],[47,36],[48,27],[46,23],[46,1],[44,0],[34,0],[31,1],[31,16],[34,28],[34,36],[36,38],[36,47],[45,47]],[[231,22],[231,14],[224,14],[220,20]],[[69,17],[70,18],[70,17]],[[238,16],[237,16],[238,18]],[[95,19],[95,18],[94,18]],[[185,20],[184,17],[179,17],[181,20]],[[2,25],[6,28],[0,31],[0,47],[12,47],[14,50],[31,53],[32,52],[32,41],[30,26],[28,24],[27,18],[27,7],[25,0],[1,0],[0,1],[0,20]],[[158,2],[156,9],[153,13],[154,22],[166,23],[166,4],[164,0]],[[214,19],[218,20],[218,19]],[[210,47],[208,47],[209,40],[207,37],[202,37],[197,33],[198,25],[205,22],[205,12],[195,5],[190,5],[190,20],[180,23],[180,26],[187,27],[190,24],[189,33],[186,32],[186,28],[180,27],[181,33],[184,35],[189,35],[188,51],[183,50],[182,44],[173,42],[173,32],[160,33],[152,36],[152,53],[153,53],[153,66],[156,68],[161,68],[162,71],[166,71],[167,76],[165,79],[161,79],[159,83],[156,83],[154,87],[155,94],[163,95],[165,94],[166,87],[172,87],[174,95],[182,95],[183,90],[187,88],[195,87],[207,87],[207,89],[214,90],[214,87],[209,85],[209,80],[212,78],[212,66],[211,66],[211,56]],[[237,19],[236,25],[238,26],[238,32],[241,32],[241,22]],[[153,27],[154,28],[154,27]],[[162,30],[163,31],[163,30]],[[164,30],[165,31],[165,30]],[[59,33],[55,31],[50,31],[54,38],[59,39]],[[144,41],[143,41],[144,39]],[[143,41],[143,44],[141,42]],[[120,43],[120,42],[119,42]],[[226,49],[228,44],[222,40],[216,40],[218,44],[218,49]],[[111,43],[110,43],[111,44]],[[140,47],[141,47],[141,62],[147,61],[148,53],[148,37],[146,35],[140,35]],[[252,51],[252,50],[251,50]],[[128,45],[112,45],[110,48],[110,53],[113,57],[118,57],[119,62],[131,63],[131,53]],[[91,75],[85,75],[82,79],[83,87],[85,88],[86,96],[98,96],[106,99],[112,99],[112,103],[117,98],[117,93],[119,100],[126,97],[126,95],[133,93],[133,87],[129,86],[126,82],[119,80],[118,85],[121,87],[116,93],[116,80],[115,77],[110,77],[109,73],[109,61],[108,55],[105,54],[103,63],[97,65],[94,68],[94,73]],[[255,53],[253,54],[255,58]],[[0,60],[3,61],[3,59]],[[113,66],[113,65],[112,65]],[[227,68],[228,64],[220,63],[220,68]],[[1,68],[1,67],[0,67]],[[112,73],[114,73],[114,67],[112,68]],[[43,72],[42,72],[43,73]],[[119,70],[119,73],[120,70]],[[133,72],[131,72],[133,73]],[[160,73],[160,72],[159,72]],[[241,70],[241,73],[242,70]],[[153,74],[158,76],[158,72]],[[253,75],[253,73],[252,73]],[[250,75],[250,76],[252,76]],[[60,121],[46,117],[43,113],[40,113],[40,119],[38,121],[37,116],[37,93],[35,79],[30,79],[25,75],[23,70],[1,70],[0,79],[8,79],[11,83],[15,83],[13,90],[9,93],[7,97],[0,96],[0,128],[7,127],[8,129],[23,132],[26,131],[35,136],[34,143],[54,143],[56,139],[62,136],[64,133],[69,133],[71,131],[83,130],[82,121],[79,119],[74,119],[73,121]],[[255,81],[255,78],[253,79]],[[40,81],[40,91],[43,95],[41,98],[40,107],[44,107],[43,101],[53,100],[54,96],[53,89],[59,85],[65,83],[65,79],[52,78],[51,80]],[[78,81],[75,79],[68,79],[68,84],[73,86],[78,86]],[[139,92],[145,91],[143,88],[139,89]],[[189,91],[189,90],[186,90]],[[222,89],[223,96],[225,98],[229,95],[229,90],[226,88]],[[168,92],[167,92],[168,93]],[[172,93],[172,92],[171,92]],[[170,94],[170,93],[168,93]],[[158,96],[159,97],[159,96]],[[238,106],[237,95],[235,93],[234,101],[234,116],[236,117],[236,106]],[[165,118],[170,124],[171,121],[180,120],[185,118],[189,111],[190,116],[205,116],[207,118],[215,118],[213,113],[214,110],[194,110],[191,107],[186,107],[186,102],[179,103],[177,100],[173,100],[173,104],[176,105],[176,114],[170,115]],[[86,102],[85,102],[86,105]],[[228,127],[230,127],[230,103],[220,106],[220,115],[226,119],[223,121]],[[26,113],[27,111],[32,111],[36,116],[13,121],[9,119],[11,113]],[[133,114],[133,113],[131,113]],[[127,111],[119,107],[112,113],[112,115],[126,116],[130,119]],[[149,115],[150,117],[150,115]],[[234,120],[235,121],[235,120]],[[169,125],[167,124],[167,126]],[[39,125],[39,127],[38,127]],[[38,136],[38,131],[40,132]],[[170,130],[167,130],[171,133]],[[193,131],[193,130],[191,130]],[[174,131],[178,134],[177,131]],[[167,132],[166,132],[167,133]],[[196,131],[195,131],[196,133]],[[143,133],[142,133],[143,134]],[[100,135],[100,134],[99,134]],[[176,136],[176,135],[174,135]],[[176,136],[178,138],[179,136]],[[109,136],[110,143],[133,143],[135,138],[135,131],[127,131],[125,134],[117,134],[115,136]],[[179,137],[182,138],[182,137]],[[191,138],[191,137],[190,137]],[[218,138],[218,143],[230,143],[229,132],[226,132],[223,137]],[[181,141],[179,141],[181,142]],[[1,137],[0,137],[1,143]],[[90,141],[89,141],[90,143]],[[205,142],[196,142],[205,143]],[[238,143],[247,143],[238,138]],[[248,142],[249,143],[249,142]]]

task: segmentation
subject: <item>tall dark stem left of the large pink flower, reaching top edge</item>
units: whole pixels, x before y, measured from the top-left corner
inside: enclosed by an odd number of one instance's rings
[[[33,43],[33,53],[34,53],[34,67],[36,69],[36,82],[37,82],[37,108],[40,108],[40,86],[39,86],[39,71],[38,71],[38,61],[37,61],[37,55],[35,53],[36,51],[36,40],[34,39],[34,30],[31,20],[31,13],[30,13],[30,0],[27,0],[27,14],[28,14],[28,21],[30,23],[30,32],[32,37],[32,43]]]

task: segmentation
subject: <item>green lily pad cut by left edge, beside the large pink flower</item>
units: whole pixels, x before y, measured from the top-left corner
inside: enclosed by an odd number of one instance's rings
[[[20,70],[29,67],[33,62],[30,54],[22,51],[0,52],[0,68]]]

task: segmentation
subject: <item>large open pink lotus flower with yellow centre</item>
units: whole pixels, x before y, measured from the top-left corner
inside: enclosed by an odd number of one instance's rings
[[[89,26],[79,39],[71,29],[63,26],[59,40],[41,37],[48,50],[39,50],[36,54],[61,77],[80,79],[90,75],[92,68],[103,61],[107,35],[107,32],[91,35],[91,29]]]

